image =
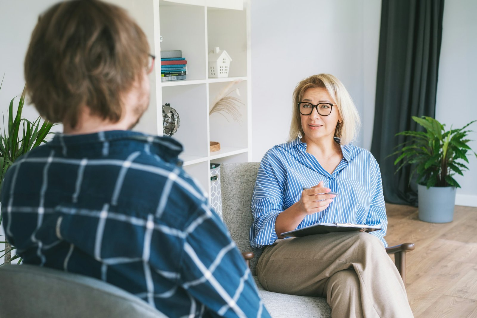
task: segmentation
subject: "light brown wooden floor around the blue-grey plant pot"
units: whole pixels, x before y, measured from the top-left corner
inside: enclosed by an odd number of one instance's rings
[[[386,204],[389,246],[407,253],[406,290],[415,318],[477,318],[477,208],[456,206],[451,223],[426,223],[417,208]]]

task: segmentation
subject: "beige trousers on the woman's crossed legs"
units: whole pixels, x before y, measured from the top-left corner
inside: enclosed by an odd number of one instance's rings
[[[326,297],[332,318],[414,317],[399,272],[369,233],[279,240],[263,251],[257,276],[272,292]]]

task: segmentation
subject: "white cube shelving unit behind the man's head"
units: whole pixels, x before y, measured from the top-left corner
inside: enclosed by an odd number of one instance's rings
[[[179,114],[173,138],[184,146],[184,169],[210,193],[210,162],[251,159],[251,83],[249,0],[110,0],[125,8],[145,31],[156,55],[150,75],[149,109],[135,130],[162,135],[162,105],[170,103]],[[159,42],[159,36],[164,38]],[[214,47],[231,56],[229,77],[208,78],[207,53]],[[187,80],[161,82],[160,51],[181,50],[187,60]],[[210,103],[230,82],[238,97],[241,119],[209,116]],[[209,142],[220,142],[210,152]]]

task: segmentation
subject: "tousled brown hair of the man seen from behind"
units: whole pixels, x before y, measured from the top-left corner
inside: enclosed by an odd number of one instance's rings
[[[144,32],[123,9],[99,0],[57,3],[39,17],[25,57],[31,103],[71,127],[82,106],[117,122],[121,94],[141,81],[148,53]]]

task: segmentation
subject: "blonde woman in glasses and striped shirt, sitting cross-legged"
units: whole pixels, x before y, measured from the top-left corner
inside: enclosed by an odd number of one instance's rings
[[[326,297],[333,318],[413,317],[384,249],[379,166],[369,151],[350,144],[358,128],[356,107],[336,77],[319,74],[298,83],[290,141],[265,154],[253,193],[250,244],[265,248],[257,276],[273,292]],[[319,222],[382,230],[281,240],[280,233]]]

